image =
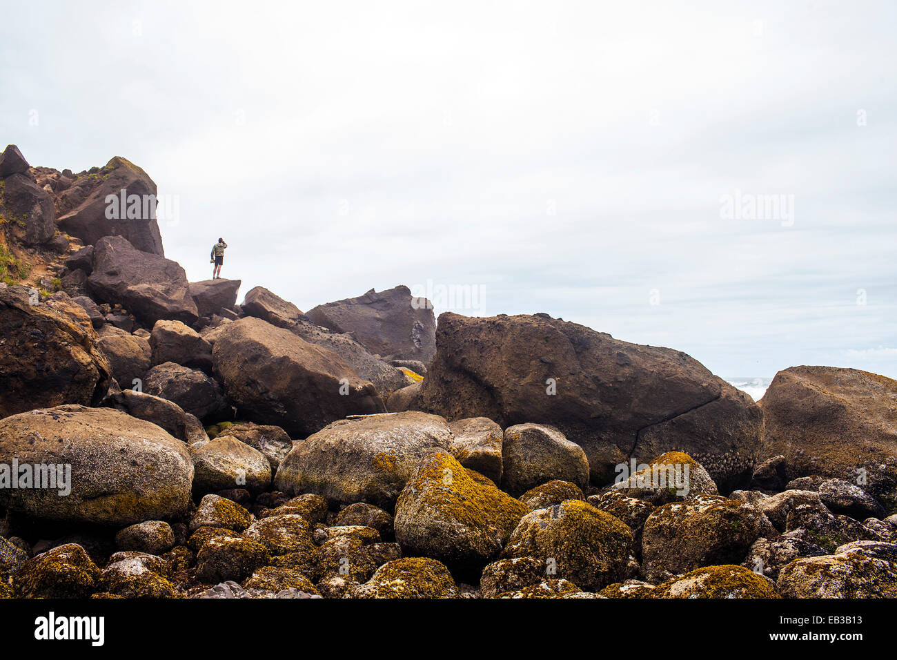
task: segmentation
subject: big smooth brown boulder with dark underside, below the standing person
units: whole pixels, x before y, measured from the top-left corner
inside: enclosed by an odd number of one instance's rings
[[[373,384],[334,353],[289,330],[245,318],[228,323],[212,351],[213,368],[240,412],[308,436],[335,419],[382,412]]]

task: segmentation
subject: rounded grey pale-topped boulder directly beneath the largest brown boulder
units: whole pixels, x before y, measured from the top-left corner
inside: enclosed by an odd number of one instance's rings
[[[588,488],[588,459],[579,444],[556,428],[518,424],[505,429],[501,444],[501,488],[522,495],[551,480]]]

